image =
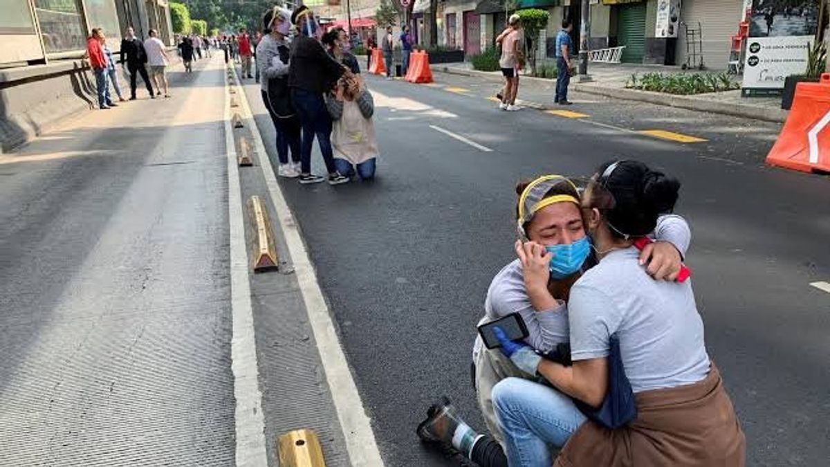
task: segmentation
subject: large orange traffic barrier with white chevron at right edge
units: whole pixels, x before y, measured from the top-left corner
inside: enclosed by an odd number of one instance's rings
[[[830,73],[798,83],[793,107],[767,164],[802,172],[830,172]]]

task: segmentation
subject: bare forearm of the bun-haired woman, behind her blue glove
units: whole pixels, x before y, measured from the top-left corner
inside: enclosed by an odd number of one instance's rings
[[[574,361],[574,366],[563,366],[543,358],[537,371],[559,391],[588,406],[601,406],[608,392],[607,358]]]

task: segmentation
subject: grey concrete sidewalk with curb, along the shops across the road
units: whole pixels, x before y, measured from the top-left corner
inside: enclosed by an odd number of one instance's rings
[[[492,81],[501,81],[499,71],[476,71],[468,62],[447,63],[432,66],[432,71],[450,73],[463,76],[481,76]],[[727,116],[740,116],[754,120],[784,122],[788,111],[782,110],[779,98],[743,98],[740,90],[713,92],[696,96],[677,96],[662,92],[638,91],[626,89],[625,85],[632,74],[642,75],[644,72],[693,72],[681,71],[676,66],[628,66],[592,63],[588,68],[593,81],[579,82],[575,77],[571,81],[570,90],[584,92],[598,96],[613,97],[628,101],[642,101],[659,106],[680,107],[692,111],[712,112]],[[542,86],[554,89],[553,80],[522,76],[523,86]],[[553,94],[551,94],[553,96]]]

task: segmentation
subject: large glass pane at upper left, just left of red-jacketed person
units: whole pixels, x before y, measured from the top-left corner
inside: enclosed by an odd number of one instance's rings
[[[83,50],[86,47],[84,18],[78,0],[35,0],[47,53]]]

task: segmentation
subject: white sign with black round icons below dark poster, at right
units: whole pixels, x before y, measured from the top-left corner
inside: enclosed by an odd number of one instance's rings
[[[744,65],[744,96],[780,96],[784,80],[807,71],[813,36],[749,37]]]

